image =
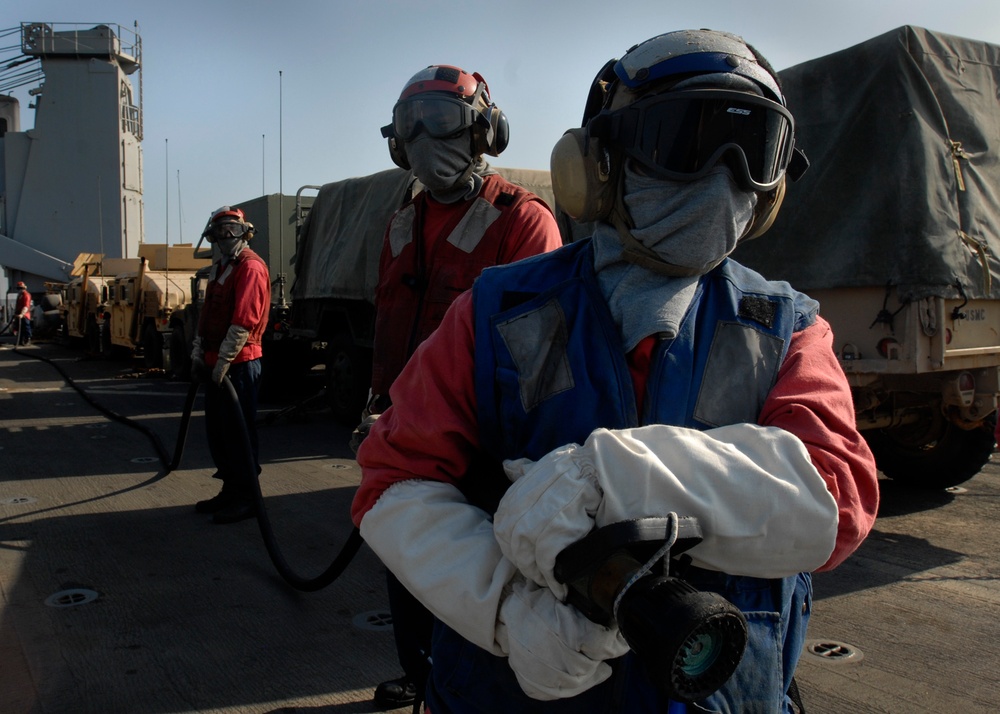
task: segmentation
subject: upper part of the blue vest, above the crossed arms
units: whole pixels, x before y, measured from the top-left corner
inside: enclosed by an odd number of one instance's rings
[[[818,311],[788,283],[724,261],[658,346],[640,416],[590,241],[488,268],[473,295],[480,433],[498,459],[538,459],[598,427],[756,423],[792,333]]]

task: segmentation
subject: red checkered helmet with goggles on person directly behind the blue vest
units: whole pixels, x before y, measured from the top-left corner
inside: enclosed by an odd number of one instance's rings
[[[490,100],[482,75],[451,65],[431,65],[403,87],[392,108],[392,123],[382,127],[382,136],[389,140],[393,163],[409,169],[406,142],[421,131],[444,138],[469,127],[473,156],[499,156],[507,148],[507,116]]]

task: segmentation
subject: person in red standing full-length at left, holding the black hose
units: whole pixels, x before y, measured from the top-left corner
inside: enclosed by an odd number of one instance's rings
[[[208,447],[222,480],[222,490],[213,498],[195,504],[198,513],[211,513],[214,523],[234,523],[256,513],[247,475],[236,450],[243,448],[241,427],[227,414],[229,396],[220,388],[228,375],[239,398],[243,420],[249,430],[253,460],[260,473],[257,440],[257,397],[260,391],[261,337],[271,306],[271,281],[267,265],[247,247],[253,224],[243,211],[223,206],[212,214],[204,232],[217,251],[212,263],[205,303],[198,323],[198,336],[191,352],[192,376],[205,379],[205,429]]]

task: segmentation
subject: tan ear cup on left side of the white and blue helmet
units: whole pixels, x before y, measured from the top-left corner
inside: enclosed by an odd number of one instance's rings
[[[556,203],[581,223],[611,213],[618,190],[619,162],[586,129],[570,129],[552,148],[549,161]]]

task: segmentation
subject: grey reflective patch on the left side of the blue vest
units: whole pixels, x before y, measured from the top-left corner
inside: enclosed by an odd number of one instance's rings
[[[517,368],[525,412],[573,388],[573,371],[566,354],[566,315],[558,300],[500,323],[497,331]]]

